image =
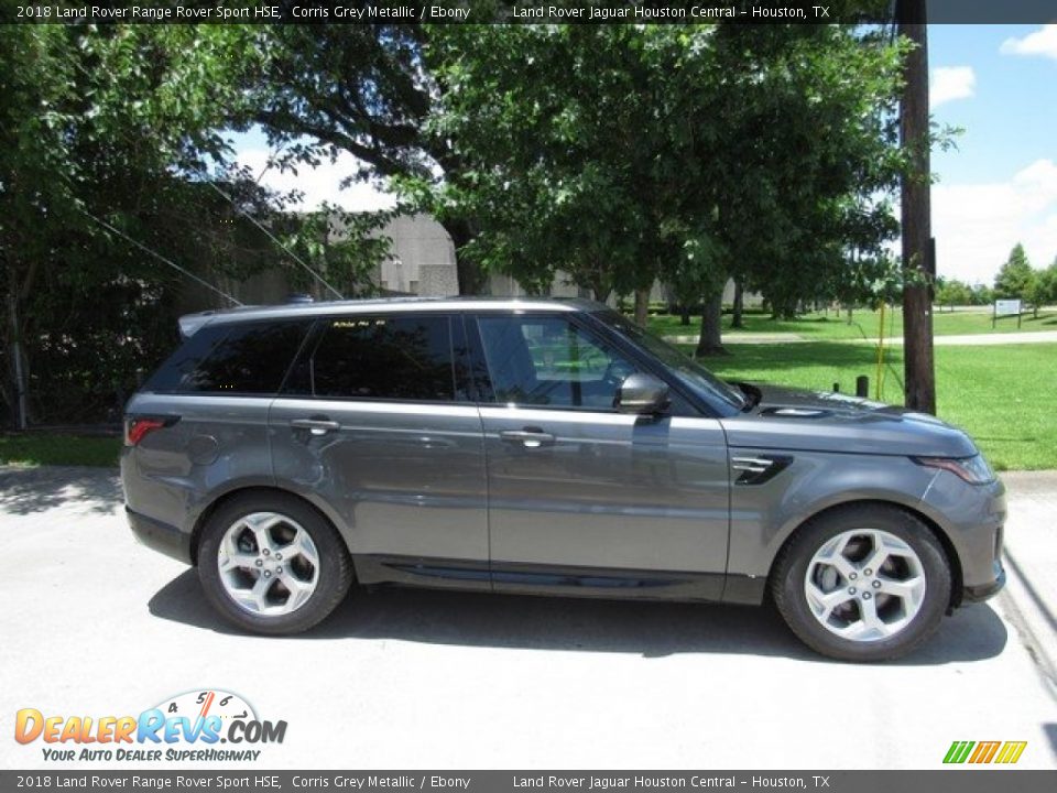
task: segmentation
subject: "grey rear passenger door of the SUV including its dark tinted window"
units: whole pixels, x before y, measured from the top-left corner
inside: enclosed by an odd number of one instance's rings
[[[458,315],[323,319],[272,404],[276,478],[329,511],[363,583],[488,587],[482,432],[465,355]]]

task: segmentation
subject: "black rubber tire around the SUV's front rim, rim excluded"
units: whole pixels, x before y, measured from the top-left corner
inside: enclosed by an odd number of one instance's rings
[[[815,618],[807,604],[804,582],[815,553],[830,539],[851,529],[878,529],[907,544],[925,573],[925,599],[908,626],[896,636],[857,642],[831,633]],[[786,623],[814,650],[842,661],[886,661],[905,655],[925,642],[939,627],[950,602],[950,565],[931,531],[903,510],[871,506],[839,510],[802,526],[783,548],[773,594]]]

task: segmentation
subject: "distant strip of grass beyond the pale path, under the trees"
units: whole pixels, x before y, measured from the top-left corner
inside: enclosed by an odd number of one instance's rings
[[[852,322],[848,324],[847,314],[841,312],[838,318],[833,312],[828,314],[814,312],[804,314],[796,319],[772,319],[765,314],[745,314],[744,328],[732,332],[730,315],[723,316],[723,333],[793,333],[810,340],[825,339],[861,339],[876,338],[880,325],[878,312],[854,311]],[[690,325],[682,325],[678,316],[658,315],[650,317],[650,329],[661,336],[696,336],[700,332],[701,318],[695,316]],[[984,333],[1031,333],[1032,330],[1057,330],[1057,309],[1043,308],[1038,312],[1038,319],[1027,314],[1021,318],[1021,328],[1017,330],[1016,318],[1000,319],[995,327],[991,327],[991,309],[981,307],[979,311],[939,312],[933,315],[933,333],[936,336],[959,336],[962,334]],[[884,319],[884,336],[892,334],[903,335],[903,312],[900,308],[886,311]]]

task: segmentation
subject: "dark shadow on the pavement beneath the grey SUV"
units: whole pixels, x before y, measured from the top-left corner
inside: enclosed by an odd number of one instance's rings
[[[149,604],[153,616],[226,634],[242,631],[213,609],[189,569]],[[789,632],[773,606],[595,600],[450,590],[355,588],[322,624],[285,641],[394,639],[427,644],[573,652],[783,656],[835,663]],[[917,666],[999,655],[1005,624],[987,605],[958,610],[939,634],[896,664]]]

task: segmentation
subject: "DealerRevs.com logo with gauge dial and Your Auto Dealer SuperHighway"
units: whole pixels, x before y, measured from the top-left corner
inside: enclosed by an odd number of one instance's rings
[[[218,688],[167,697],[138,716],[15,714],[14,739],[43,742],[44,760],[254,761],[260,747],[282,743],[285,721],[258,718],[238,694]],[[222,746],[221,746],[222,745]]]

